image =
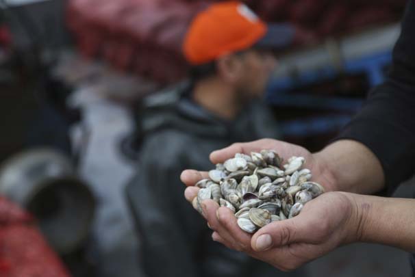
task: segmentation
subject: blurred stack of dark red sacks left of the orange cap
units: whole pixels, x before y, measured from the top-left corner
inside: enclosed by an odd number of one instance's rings
[[[158,83],[186,75],[181,44],[206,3],[171,0],[72,0],[68,25],[79,49]]]

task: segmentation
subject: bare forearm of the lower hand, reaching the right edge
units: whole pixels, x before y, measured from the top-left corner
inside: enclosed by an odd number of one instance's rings
[[[415,200],[355,195],[358,238],[415,252]]]

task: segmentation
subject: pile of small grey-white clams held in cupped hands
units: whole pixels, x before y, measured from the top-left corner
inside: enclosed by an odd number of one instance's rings
[[[303,157],[291,157],[283,164],[274,150],[238,153],[210,170],[210,179],[196,184],[201,189],[193,207],[201,212],[201,202],[212,199],[235,213],[242,230],[255,233],[266,224],[299,215],[306,202],[324,193],[310,181],[304,163]]]

